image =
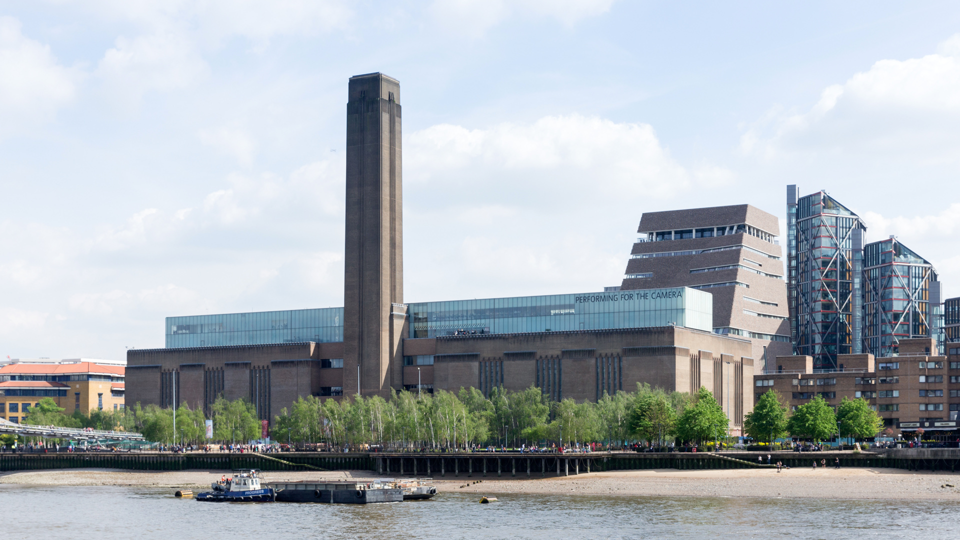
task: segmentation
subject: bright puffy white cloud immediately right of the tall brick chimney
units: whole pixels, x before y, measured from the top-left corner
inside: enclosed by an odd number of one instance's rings
[[[599,117],[546,116],[486,130],[443,124],[409,135],[405,146],[408,183],[449,193],[453,203],[630,200],[691,183],[651,126]]]

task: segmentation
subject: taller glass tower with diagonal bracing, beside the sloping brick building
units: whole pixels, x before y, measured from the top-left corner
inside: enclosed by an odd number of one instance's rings
[[[787,293],[794,354],[813,368],[837,369],[837,355],[859,353],[863,221],[826,191],[798,198],[787,185]]]

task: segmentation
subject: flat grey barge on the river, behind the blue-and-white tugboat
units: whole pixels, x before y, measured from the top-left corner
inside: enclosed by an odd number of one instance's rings
[[[274,481],[267,487],[279,503],[400,503],[403,490],[380,480]]]

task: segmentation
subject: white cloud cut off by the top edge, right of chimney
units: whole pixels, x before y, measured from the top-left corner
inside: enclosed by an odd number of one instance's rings
[[[572,26],[609,12],[616,0],[434,0],[431,12],[448,30],[479,37],[512,16],[553,18]]]

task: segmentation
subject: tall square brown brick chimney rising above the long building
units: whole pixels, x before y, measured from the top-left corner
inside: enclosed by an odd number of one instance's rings
[[[351,77],[347,103],[344,386],[389,395],[399,386],[403,304],[400,84]]]

